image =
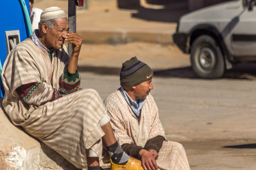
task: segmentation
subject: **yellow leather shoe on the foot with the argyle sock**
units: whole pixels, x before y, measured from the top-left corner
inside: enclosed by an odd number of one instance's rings
[[[125,165],[116,165],[111,161],[111,170],[143,170],[143,168],[140,160],[130,157]]]

